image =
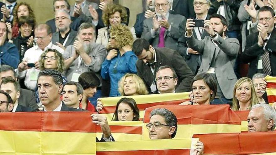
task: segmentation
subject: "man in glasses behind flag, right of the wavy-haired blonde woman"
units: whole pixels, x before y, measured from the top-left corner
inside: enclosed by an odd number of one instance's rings
[[[175,93],[177,75],[171,66],[159,67],[155,77],[159,93]]]

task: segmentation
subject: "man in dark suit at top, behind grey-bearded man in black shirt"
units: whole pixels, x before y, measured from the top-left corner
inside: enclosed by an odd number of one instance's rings
[[[70,12],[70,5],[67,0],[54,0],[53,6],[54,6],[55,13],[57,10],[60,10],[60,9],[63,9],[68,13]],[[76,17],[71,17],[71,20],[72,20],[72,23],[70,24],[70,27],[75,31],[77,31],[78,27],[84,22],[82,19],[76,18]],[[51,27],[52,33],[57,31],[55,18],[48,20],[46,24]]]

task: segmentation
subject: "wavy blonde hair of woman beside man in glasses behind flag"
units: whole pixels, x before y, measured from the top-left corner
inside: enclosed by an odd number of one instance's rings
[[[120,94],[122,96],[125,96],[124,82],[125,82],[125,79],[130,76],[133,78],[133,81],[135,82],[136,94],[137,95],[147,95],[149,92],[146,89],[146,85],[145,85],[144,81],[136,74],[130,74],[130,73],[126,73],[119,81],[118,90],[119,90]]]

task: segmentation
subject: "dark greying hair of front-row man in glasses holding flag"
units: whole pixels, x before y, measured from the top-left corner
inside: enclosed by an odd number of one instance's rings
[[[162,116],[165,119],[165,122],[168,126],[170,126],[170,127],[174,126],[175,127],[175,131],[172,134],[172,138],[175,137],[176,131],[177,131],[177,118],[174,115],[174,113],[172,111],[169,111],[169,110],[165,109],[165,108],[157,108],[157,109],[154,109],[154,110],[151,111],[150,118],[154,115]]]

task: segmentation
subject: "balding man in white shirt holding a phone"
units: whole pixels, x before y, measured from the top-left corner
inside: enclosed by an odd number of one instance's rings
[[[37,75],[39,73],[39,58],[40,55],[47,49],[56,49],[61,54],[64,52],[60,47],[52,44],[51,28],[46,24],[39,24],[34,29],[34,39],[37,45],[28,49],[23,61],[18,65],[18,78],[24,79],[25,86],[30,90],[36,89]]]

